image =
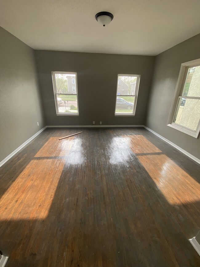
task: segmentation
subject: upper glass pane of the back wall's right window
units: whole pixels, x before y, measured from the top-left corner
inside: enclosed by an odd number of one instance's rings
[[[136,76],[118,76],[117,95],[135,95]]]

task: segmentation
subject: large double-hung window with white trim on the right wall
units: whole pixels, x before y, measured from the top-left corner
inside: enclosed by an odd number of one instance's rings
[[[200,131],[200,59],[181,64],[168,126],[195,138]]]

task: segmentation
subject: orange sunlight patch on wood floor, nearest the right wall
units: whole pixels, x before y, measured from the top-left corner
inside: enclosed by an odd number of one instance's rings
[[[130,148],[166,200],[173,205],[200,200],[200,184],[144,136],[130,136]]]

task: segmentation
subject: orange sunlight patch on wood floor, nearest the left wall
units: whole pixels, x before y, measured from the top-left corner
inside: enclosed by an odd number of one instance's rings
[[[70,149],[55,137],[46,142],[0,199],[0,220],[46,218]]]

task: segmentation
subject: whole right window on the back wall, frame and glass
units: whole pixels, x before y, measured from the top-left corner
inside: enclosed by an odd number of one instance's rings
[[[134,116],[140,75],[118,74],[115,116]]]

